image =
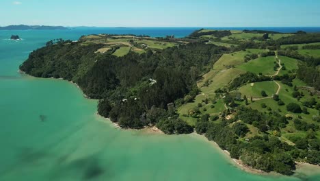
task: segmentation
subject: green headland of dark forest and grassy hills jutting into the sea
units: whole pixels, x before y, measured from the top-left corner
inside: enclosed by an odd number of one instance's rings
[[[245,171],[293,175],[299,162],[320,165],[320,58],[281,46],[316,42],[301,31],[99,34],[51,40],[20,69],[72,82],[118,128],[196,132]]]

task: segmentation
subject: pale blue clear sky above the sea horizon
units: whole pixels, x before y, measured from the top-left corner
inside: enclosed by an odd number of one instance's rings
[[[1,0],[0,26],[320,26],[319,0]]]

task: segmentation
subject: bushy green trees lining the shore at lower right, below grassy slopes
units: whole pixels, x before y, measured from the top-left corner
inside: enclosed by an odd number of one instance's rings
[[[276,171],[278,173],[291,175],[295,170],[295,160],[306,160],[312,164],[320,164],[319,139],[313,137],[308,149],[297,143],[296,146],[288,145],[279,140],[278,137],[268,135],[267,131],[277,132],[279,123],[288,123],[285,117],[267,116],[257,110],[251,110],[240,106],[235,119],[220,118],[219,123],[209,120],[209,115],[198,119],[195,130],[198,134],[204,134],[209,140],[215,141],[219,147],[230,152],[232,158],[241,159],[245,165],[263,171]],[[241,120],[241,121],[237,121]],[[274,121],[272,121],[274,120]],[[240,141],[250,130],[247,124],[260,126],[259,130],[263,136],[255,136]],[[308,144],[308,141],[306,141]],[[307,159],[306,159],[307,157]]]

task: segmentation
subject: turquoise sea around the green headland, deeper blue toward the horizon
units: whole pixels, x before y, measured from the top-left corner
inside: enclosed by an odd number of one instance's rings
[[[261,176],[236,167],[216,145],[196,134],[119,130],[96,115],[97,101],[64,80],[18,73],[29,53],[48,40],[85,34],[187,36],[198,27],[130,27],[0,31],[0,180],[320,180],[320,169],[295,176]],[[320,32],[320,27],[226,27]],[[9,40],[17,34],[23,40]]]

